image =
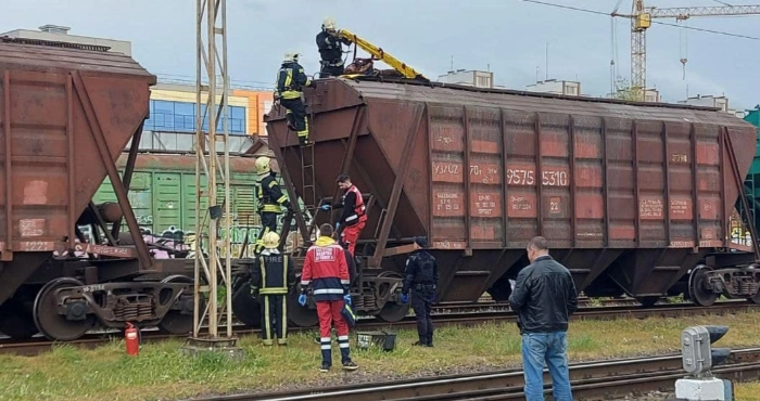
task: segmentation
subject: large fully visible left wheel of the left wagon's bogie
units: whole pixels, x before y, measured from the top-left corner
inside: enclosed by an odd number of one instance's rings
[[[33,309],[34,320],[39,332],[52,340],[71,341],[87,333],[96,323],[92,314],[84,315],[81,320],[68,320],[58,313],[58,289],[81,286],[81,282],[75,279],[55,279],[46,284],[37,294]]]

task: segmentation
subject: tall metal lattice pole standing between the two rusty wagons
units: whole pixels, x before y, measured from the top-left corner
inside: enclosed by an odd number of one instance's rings
[[[237,338],[232,336],[227,1],[197,0],[195,30],[194,306],[192,336],[188,338],[185,350],[192,354],[213,350],[240,357],[242,348],[237,346]],[[220,44],[221,52],[217,48],[218,44]],[[204,70],[206,85],[203,83]],[[218,105],[217,96],[219,98]],[[220,118],[224,138],[221,160],[219,160],[217,146],[217,128]],[[207,121],[207,131],[204,131],[204,121]],[[221,197],[217,194],[218,184],[224,185]],[[221,205],[219,205],[219,198]],[[204,208],[206,206],[207,210]],[[224,212],[221,211],[223,207]],[[219,219],[221,219],[221,224],[219,224]],[[225,233],[221,241],[219,241],[219,225]],[[208,241],[204,242],[206,235]],[[224,255],[224,263],[219,256],[219,248],[224,249],[226,254]],[[225,295],[224,302],[219,302],[219,293]],[[224,336],[218,333],[223,318],[226,318],[227,328]],[[206,323],[207,334],[201,332],[204,323]]]

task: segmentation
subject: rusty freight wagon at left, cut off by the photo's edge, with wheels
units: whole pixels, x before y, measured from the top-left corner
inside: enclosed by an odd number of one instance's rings
[[[124,176],[115,165],[139,143],[154,83],[104,47],[0,38],[0,332],[69,340],[98,323],[192,329],[191,282],[168,275],[185,263],[150,257],[127,199],[137,146]],[[105,177],[118,203],[96,205]],[[106,225],[122,220],[130,246]]]

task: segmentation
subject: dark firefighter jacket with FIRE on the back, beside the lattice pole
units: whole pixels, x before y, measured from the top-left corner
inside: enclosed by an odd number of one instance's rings
[[[284,295],[295,283],[293,261],[277,249],[264,249],[251,270],[251,287],[261,295]]]

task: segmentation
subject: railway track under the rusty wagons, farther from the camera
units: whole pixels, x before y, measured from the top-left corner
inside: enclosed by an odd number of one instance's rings
[[[496,306],[499,306],[498,308]],[[448,307],[445,307],[448,308]],[[452,309],[443,310],[444,308],[439,308],[435,314],[433,314],[433,320],[435,323],[441,325],[477,325],[484,322],[509,322],[515,321],[516,313],[504,309],[502,303],[494,303],[493,307],[483,308],[481,306],[479,309],[468,307],[464,309]],[[457,312],[452,312],[457,310]],[[742,300],[729,300],[722,302],[715,302],[711,307],[697,308],[692,303],[663,303],[651,308],[642,307],[631,307],[631,306],[615,306],[615,307],[584,307],[580,308],[579,311],[571,316],[571,320],[612,320],[612,319],[645,319],[645,318],[679,318],[686,315],[707,315],[707,314],[725,314],[725,313],[736,313],[740,311],[748,310],[760,310],[760,305],[755,305]],[[377,320],[371,316],[359,316],[355,331],[371,331],[380,328],[407,328],[415,327],[416,321],[414,316],[406,316],[402,321],[396,323],[387,323]],[[251,335],[259,333],[257,328],[250,328],[242,324],[238,324],[233,327],[236,335]],[[291,333],[304,332],[314,329],[313,327],[291,327]],[[142,342],[161,341],[169,338],[181,338],[182,335],[169,335],[160,333],[156,328],[145,328],[141,332]],[[109,332],[96,332],[86,335],[83,338],[67,341],[72,346],[81,348],[94,348],[103,344],[109,342],[113,338],[119,339],[122,337],[122,332],[109,331]],[[27,341],[14,341],[11,339],[0,340],[0,354],[2,353],[14,353],[22,355],[34,355],[40,352],[50,350],[54,344],[61,344],[55,341],[50,341],[45,337],[35,337]]]

